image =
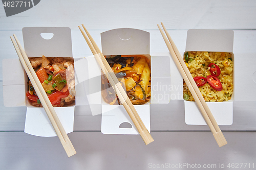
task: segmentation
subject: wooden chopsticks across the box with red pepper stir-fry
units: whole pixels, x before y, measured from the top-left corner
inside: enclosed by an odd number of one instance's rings
[[[34,87],[36,94],[37,94],[42,106],[44,107],[44,109],[50,119],[50,122],[52,123],[52,126],[53,126],[57,136],[59,137],[61,144],[63,145],[63,148],[65,149],[68,157],[75,155],[76,151],[75,151],[67,133],[65,132],[64,128],[62,127],[62,125],[59,121],[59,118],[58,118],[55,110],[53,109],[53,106],[52,106],[44,88],[41,86],[41,83],[40,83],[32,65],[29,61],[27,54],[25,53],[25,50],[23,49],[22,45],[19,43],[17,37],[14,34],[13,34],[13,36],[14,36],[14,39],[16,40],[17,44],[15,43],[15,40],[12,38],[12,36],[10,36],[10,38],[11,38],[14,48],[17,52],[19,60],[22,63],[25,71],[27,72],[29,80],[31,81],[31,83]]]

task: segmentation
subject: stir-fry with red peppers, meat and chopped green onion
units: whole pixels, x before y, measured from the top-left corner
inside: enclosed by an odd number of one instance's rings
[[[31,65],[53,107],[63,107],[75,101],[75,72],[73,59],[63,57],[30,58]],[[31,84],[26,93],[31,105],[41,107],[38,96]]]

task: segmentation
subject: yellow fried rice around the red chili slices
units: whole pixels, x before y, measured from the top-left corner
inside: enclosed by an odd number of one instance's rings
[[[199,87],[199,90],[206,102],[222,102],[231,99],[231,95],[233,93],[233,62],[232,59],[230,59],[231,53],[188,52],[188,58],[194,59],[191,62],[188,61],[186,64],[193,78],[197,76],[206,77],[211,75],[208,70],[208,65],[210,63],[215,63],[221,69],[221,74],[217,78],[221,81],[223,90],[217,91],[212,88],[209,83]],[[229,62],[228,66],[224,66],[225,61]],[[186,93],[189,95],[188,101],[195,101],[185,82],[183,92],[184,94]]]

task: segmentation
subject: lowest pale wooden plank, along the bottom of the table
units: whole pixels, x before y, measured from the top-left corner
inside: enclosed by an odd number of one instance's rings
[[[139,135],[74,132],[69,134],[69,137],[77,154],[68,158],[57,138],[36,137],[22,132],[3,132],[0,133],[0,168],[8,170],[201,169],[189,168],[187,165],[209,164],[212,168],[204,169],[220,169],[220,164],[224,163],[225,168],[222,169],[232,169],[231,163],[250,163],[250,168],[247,164],[247,168],[238,169],[254,169],[255,132],[224,132],[224,135],[230,142],[219,148],[216,141],[212,140],[210,132],[152,132],[156,140],[147,146]],[[17,139],[19,142],[16,141]],[[156,168],[165,163],[167,167],[170,164],[170,167]],[[182,166],[183,168],[172,168],[172,165],[183,165],[183,163],[187,163],[186,166]],[[227,167],[228,163],[230,168]]]

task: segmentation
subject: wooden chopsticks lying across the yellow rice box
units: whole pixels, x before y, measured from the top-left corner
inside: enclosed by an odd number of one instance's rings
[[[223,135],[223,133],[221,132],[214,116],[211,114],[210,109],[208,108],[199,88],[196,85],[196,82],[194,81],[193,77],[191,76],[185,62],[183,61],[183,57],[181,57],[178,48],[176,47],[173,39],[170,37],[169,33],[167,32],[167,30],[165,29],[163,23],[161,22],[161,25],[164,29],[166,36],[164,35],[162,29],[160,28],[159,25],[158,29],[160,30],[163,39],[168,47],[168,50],[170,52],[170,55],[173,57],[173,60],[176,64],[176,66],[178,67],[181,76],[183,77],[185,83],[187,84],[190,92],[192,93],[204,119],[205,122],[207,123],[207,125],[210,128],[210,131],[212,132],[212,134],[215,137],[215,140],[217,141],[219,147],[222,147],[223,145],[227,144],[227,141]],[[169,40],[169,41],[168,41]]]

